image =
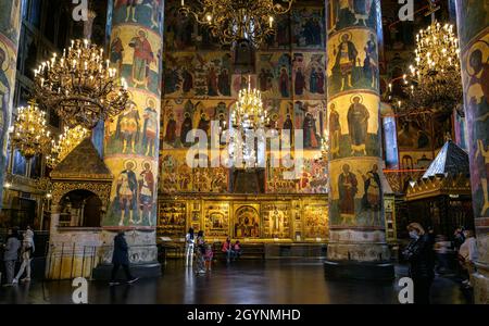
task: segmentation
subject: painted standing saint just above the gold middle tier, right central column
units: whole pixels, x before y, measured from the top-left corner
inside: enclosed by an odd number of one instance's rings
[[[359,51],[355,45],[351,41],[351,34],[346,33],[341,35],[341,42],[338,49],[334,49],[333,54],[336,55],[334,72],[338,71],[341,74],[341,90],[346,87],[353,87],[351,83],[353,67],[356,66],[356,57]]]

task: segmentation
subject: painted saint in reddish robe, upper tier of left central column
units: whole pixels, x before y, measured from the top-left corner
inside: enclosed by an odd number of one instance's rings
[[[150,64],[155,62],[153,50],[148,41],[148,33],[139,29],[137,36],[130,40],[129,47],[134,48],[133,83],[136,87],[142,85],[148,89]]]

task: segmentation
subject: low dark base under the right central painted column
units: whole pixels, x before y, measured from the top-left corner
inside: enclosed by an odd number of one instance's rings
[[[391,262],[329,261],[324,263],[326,278],[359,280],[392,280],[396,277]]]

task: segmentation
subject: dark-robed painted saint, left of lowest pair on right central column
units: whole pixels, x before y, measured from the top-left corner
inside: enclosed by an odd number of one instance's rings
[[[347,221],[355,224],[355,195],[358,192],[358,185],[356,176],[350,172],[350,165],[344,164],[342,166],[342,173],[338,177],[338,211],[342,218],[342,224],[348,224]]]

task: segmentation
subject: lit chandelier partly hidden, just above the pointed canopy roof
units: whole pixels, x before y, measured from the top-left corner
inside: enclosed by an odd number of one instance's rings
[[[64,160],[82,140],[88,137],[89,130],[76,126],[74,128],[64,127],[64,133],[60,135],[58,141],[51,140],[51,153],[46,158],[46,164],[54,168],[58,163]]]

